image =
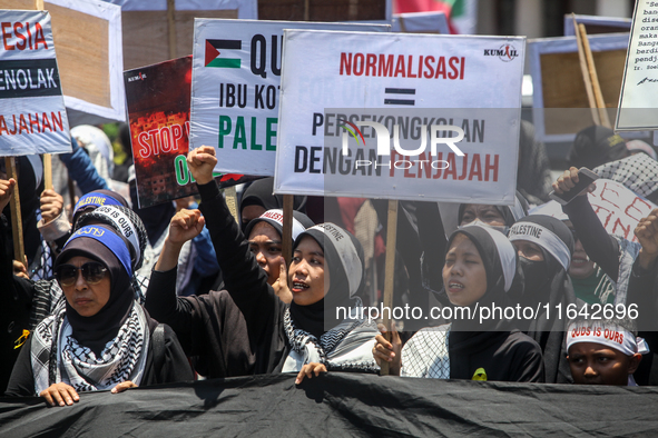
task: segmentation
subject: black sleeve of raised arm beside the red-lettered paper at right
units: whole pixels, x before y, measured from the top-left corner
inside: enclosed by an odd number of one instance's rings
[[[608,277],[619,277],[619,242],[606,231],[587,196],[577,196],[562,207],[590,260]]]

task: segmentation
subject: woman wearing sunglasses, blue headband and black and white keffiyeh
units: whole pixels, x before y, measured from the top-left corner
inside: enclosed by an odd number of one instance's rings
[[[105,225],[71,236],[53,266],[66,301],[22,347],[8,396],[67,406],[78,392],[193,379],[176,335],[135,300],[131,259],[130,245]]]

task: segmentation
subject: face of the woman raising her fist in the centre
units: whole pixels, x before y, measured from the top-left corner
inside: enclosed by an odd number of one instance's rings
[[[297,306],[310,306],[324,298],[328,290],[328,269],[325,270],[324,252],[315,239],[306,236],[293,253],[288,280],[293,301]]]

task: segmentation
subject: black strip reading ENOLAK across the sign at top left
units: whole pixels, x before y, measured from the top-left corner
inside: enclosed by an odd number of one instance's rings
[[[55,58],[0,62],[0,99],[42,96],[61,96]]]

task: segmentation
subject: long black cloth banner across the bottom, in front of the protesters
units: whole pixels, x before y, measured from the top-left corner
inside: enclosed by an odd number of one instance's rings
[[[652,436],[658,388],[330,372],[81,394],[72,407],[0,399],[0,437]]]

